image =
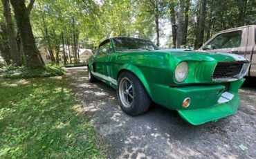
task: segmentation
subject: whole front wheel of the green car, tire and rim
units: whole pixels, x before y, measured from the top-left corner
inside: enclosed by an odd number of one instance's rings
[[[118,77],[117,94],[122,111],[132,116],[145,113],[151,104],[140,79],[128,71],[122,72]]]

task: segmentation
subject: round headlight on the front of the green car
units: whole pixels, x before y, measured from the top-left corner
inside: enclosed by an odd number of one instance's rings
[[[175,70],[175,79],[177,82],[183,82],[188,75],[188,63],[181,62],[178,64]]]

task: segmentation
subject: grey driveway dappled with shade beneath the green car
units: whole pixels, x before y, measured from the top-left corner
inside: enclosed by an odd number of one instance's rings
[[[89,83],[86,74],[84,67],[66,71],[85,114],[109,143],[109,158],[256,158],[256,84],[239,91],[237,114],[195,127],[158,105],[145,115],[126,115],[116,90]]]

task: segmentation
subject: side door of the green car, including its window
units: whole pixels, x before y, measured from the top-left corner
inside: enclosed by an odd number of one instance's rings
[[[110,41],[109,39],[103,41],[95,55],[95,59],[93,62],[93,73],[95,76],[100,77],[101,79],[107,80],[109,76],[109,58],[111,51],[110,48]]]

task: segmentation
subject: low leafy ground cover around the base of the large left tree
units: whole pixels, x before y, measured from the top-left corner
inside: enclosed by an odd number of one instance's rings
[[[52,77],[64,75],[64,69],[60,66],[44,66],[42,68],[27,68],[24,66],[13,67],[9,66],[3,73],[3,78],[19,79],[19,78],[34,78],[34,77]]]

